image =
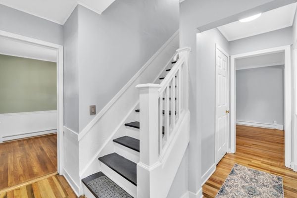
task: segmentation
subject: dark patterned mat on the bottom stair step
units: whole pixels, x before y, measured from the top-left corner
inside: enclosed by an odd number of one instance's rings
[[[102,172],[97,173],[97,176],[99,177],[89,181],[87,185],[98,198],[133,198]]]

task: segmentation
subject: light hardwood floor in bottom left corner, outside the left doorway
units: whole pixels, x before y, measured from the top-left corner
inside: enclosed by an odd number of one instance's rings
[[[77,198],[63,176],[50,176],[8,192],[0,198]]]

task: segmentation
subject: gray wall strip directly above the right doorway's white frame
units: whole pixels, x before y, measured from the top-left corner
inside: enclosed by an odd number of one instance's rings
[[[230,42],[230,55],[292,44],[293,29],[287,27]]]

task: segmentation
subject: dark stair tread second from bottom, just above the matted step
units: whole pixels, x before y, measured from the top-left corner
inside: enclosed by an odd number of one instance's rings
[[[129,182],[137,186],[136,163],[115,152],[99,157],[98,159]]]

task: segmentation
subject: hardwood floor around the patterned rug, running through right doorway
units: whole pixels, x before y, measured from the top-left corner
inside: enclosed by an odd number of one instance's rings
[[[236,153],[227,153],[203,185],[203,196],[214,198],[235,163],[283,177],[285,198],[297,198],[297,172],[285,167],[284,131],[238,125]]]

